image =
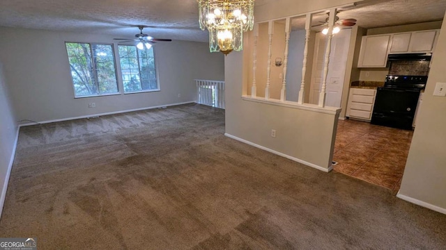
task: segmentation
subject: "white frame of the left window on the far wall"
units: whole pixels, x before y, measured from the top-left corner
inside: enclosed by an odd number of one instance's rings
[[[91,60],[93,62],[93,47],[92,45],[95,44],[99,44],[99,45],[109,45],[112,47],[112,56],[113,56],[113,65],[114,65],[114,75],[116,77],[116,92],[114,93],[104,93],[104,94],[89,94],[89,95],[83,95],[83,96],[76,96],[76,88],[75,88],[75,82],[73,81],[72,75],[71,75],[71,66],[70,66],[70,56],[68,55],[68,49],[66,44],[67,43],[76,43],[76,44],[89,44],[90,45],[90,58],[89,60]],[[65,42],[65,51],[67,53],[67,60],[68,60],[68,67],[70,69],[70,78],[71,78],[71,86],[72,86],[72,90],[73,90],[73,94],[74,94],[74,98],[75,99],[79,99],[79,98],[89,98],[89,97],[107,97],[107,96],[113,96],[113,95],[119,95],[122,94],[121,93],[121,88],[120,88],[120,84],[119,84],[119,80],[118,80],[118,67],[116,65],[116,53],[114,50],[114,43],[110,43],[110,42],[70,42],[70,41],[66,41]],[[155,54],[154,54],[155,56]],[[94,63],[91,64],[93,66],[93,77],[95,80],[95,84],[96,84],[96,88],[99,90],[99,81],[98,81],[98,72],[96,70],[96,65]]]

